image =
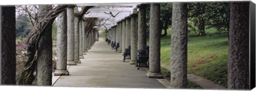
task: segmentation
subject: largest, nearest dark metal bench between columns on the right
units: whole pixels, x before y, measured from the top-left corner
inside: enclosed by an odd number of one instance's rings
[[[137,63],[135,67],[138,67],[137,70],[140,69],[141,63],[145,64],[145,67],[149,68],[149,46],[144,46],[142,49],[138,50]]]

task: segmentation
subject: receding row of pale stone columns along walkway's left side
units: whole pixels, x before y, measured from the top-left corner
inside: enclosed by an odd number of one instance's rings
[[[95,30],[85,30],[85,21],[79,20],[74,6],[67,7],[58,16],[57,67],[55,76],[69,75],[67,65],[81,63],[83,55],[95,43]]]

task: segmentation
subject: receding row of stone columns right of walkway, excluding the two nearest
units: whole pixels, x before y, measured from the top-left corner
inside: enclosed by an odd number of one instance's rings
[[[131,46],[130,64],[136,64],[138,50],[146,46],[146,5],[138,5],[137,11],[117,22],[116,26],[109,30],[112,42],[119,42],[119,51]],[[149,37],[149,78],[162,78],[160,66],[160,5],[151,4],[150,9],[150,37]],[[154,17],[151,17],[154,16]],[[127,59],[127,58],[126,58]]]

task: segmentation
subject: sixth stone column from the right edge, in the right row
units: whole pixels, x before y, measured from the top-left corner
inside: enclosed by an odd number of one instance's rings
[[[125,27],[125,48],[131,45],[131,17],[126,18]]]

